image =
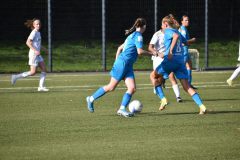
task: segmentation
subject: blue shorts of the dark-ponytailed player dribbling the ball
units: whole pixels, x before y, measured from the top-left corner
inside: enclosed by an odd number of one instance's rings
[[[135,78],[133,65],[126,64],[126,62],[120,58],[114,62],[110,75],[117,81],[121,81],[125,78]]]

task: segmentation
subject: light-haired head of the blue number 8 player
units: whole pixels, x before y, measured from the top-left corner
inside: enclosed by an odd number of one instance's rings
[[[179,27],[180,25],[178,21],[175,19],[175,17],[172,14],[169,14],[162,19],[162,29],[165,29],[165,28],[178,29]]]

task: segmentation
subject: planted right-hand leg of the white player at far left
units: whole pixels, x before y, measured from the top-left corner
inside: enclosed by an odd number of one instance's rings
[[[43,60],[41,60],[39,62],[39,68],[41,69],[41,74],[40,74],[38,91],[47,92],[47,91],[49,91],[49,89],[47,89],[45,87],[45,79],[46,79],[47,69],[46,69],[46,65]]]

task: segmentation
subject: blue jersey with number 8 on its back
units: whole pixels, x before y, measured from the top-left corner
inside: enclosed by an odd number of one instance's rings
[[[179,33],[178,30],[173,29],[173,28],[167,28],[164,31],[164,46],[166,48],[166,50],[164,52],[164,59],[168,60],[167,56],[169,54],[169,50],[170,50],[170,46],[171,46],[171,43],[172,43],[173,34],[180,35],[178,40],[177,40],[177,43],[174,46],[173,51],[172,51],[173,60],[182,63],[182,61],[183,61],[183,52],[184,52],[182,43],[186,43],[186,39],[181,36],[181,34]]]

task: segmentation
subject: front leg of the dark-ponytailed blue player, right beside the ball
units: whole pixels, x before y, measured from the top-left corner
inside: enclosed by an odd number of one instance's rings
[[[123,95],[121,106],[117,111],[117,114],[124,117],[132,117],[133,114],[130,112],[127,112],[126,108],[129,102],[131,101],[132,95],[136,91],[135,79],[133,77],[128,77],[125,79],[125,84],[127,86],[127,92]]]

